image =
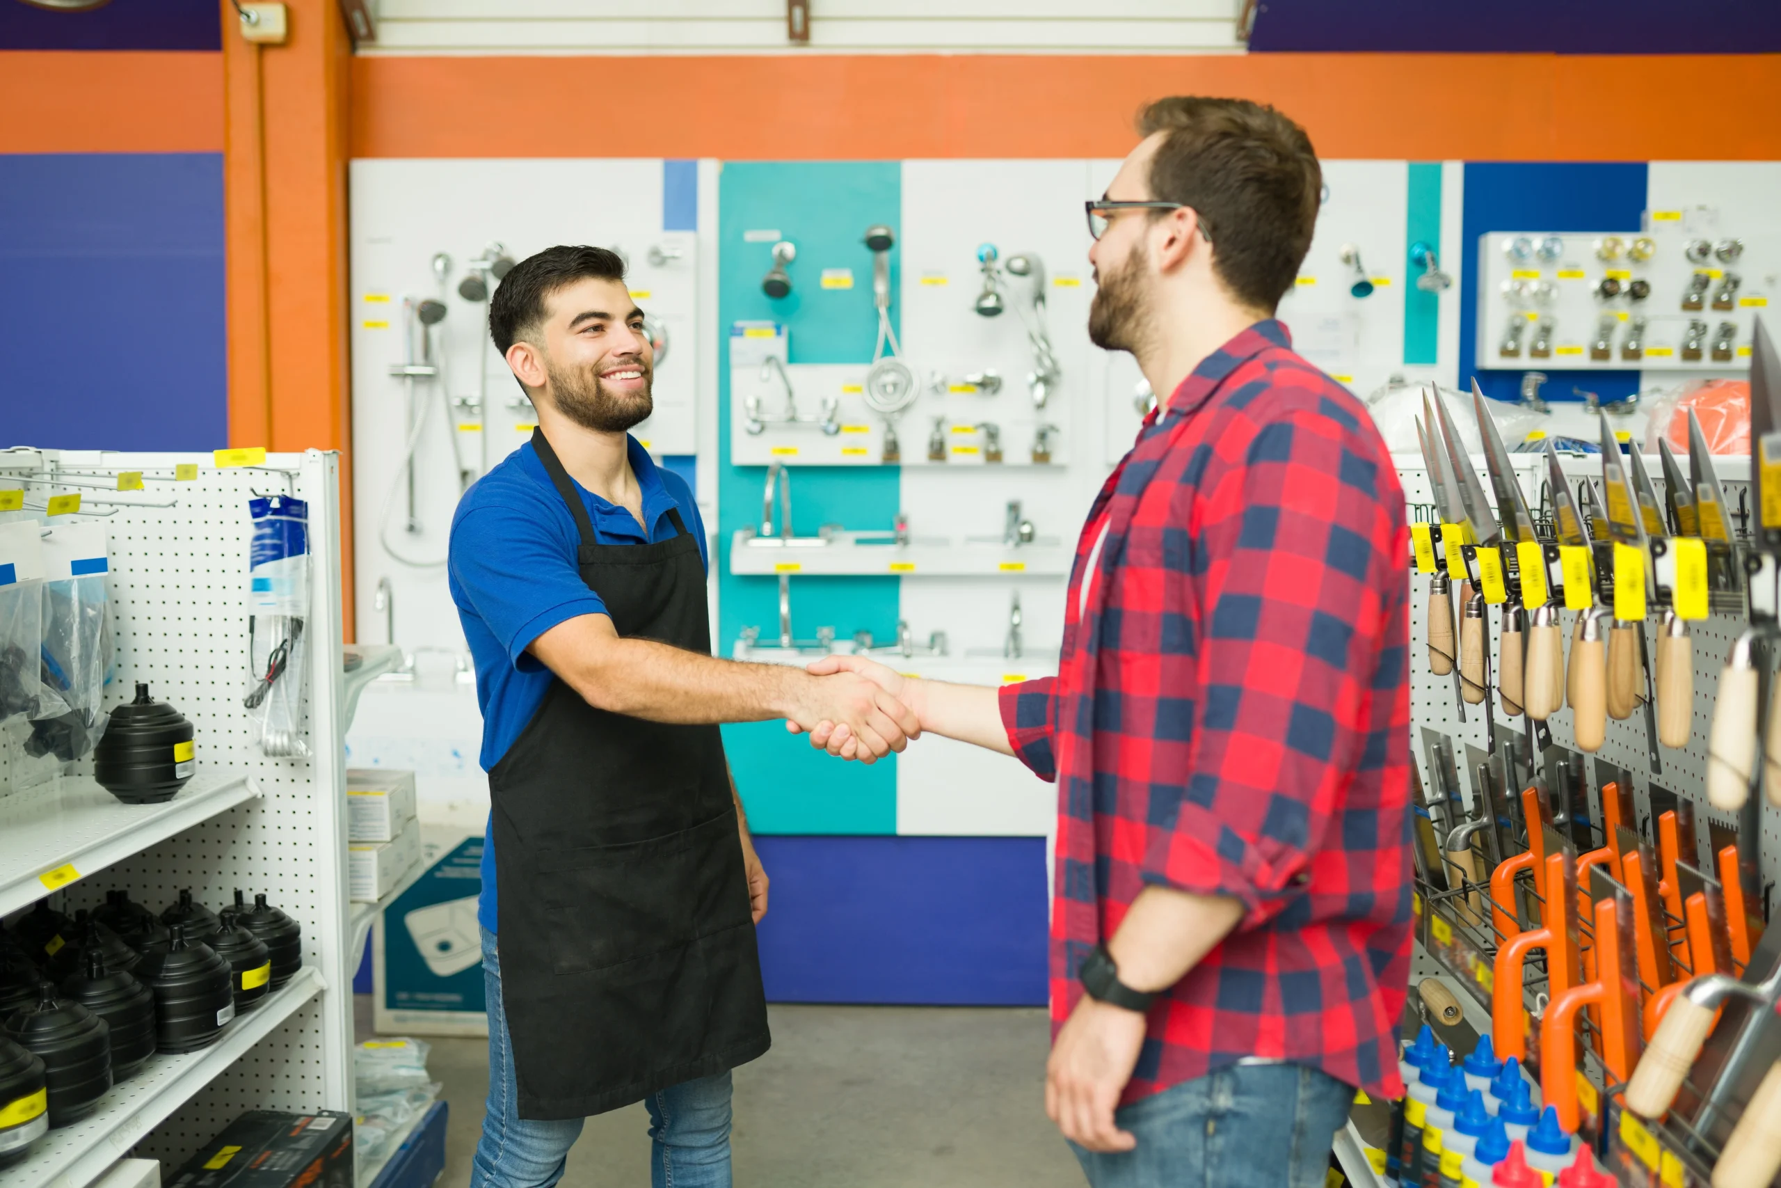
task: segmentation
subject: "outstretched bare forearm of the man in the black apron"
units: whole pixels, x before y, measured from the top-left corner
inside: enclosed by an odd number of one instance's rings
[[[703,725],[785,718],[809,680],[801,668],[785,664],[744,664],[654,639],[613,638],[575,668],[570,684],[595,709]]]

